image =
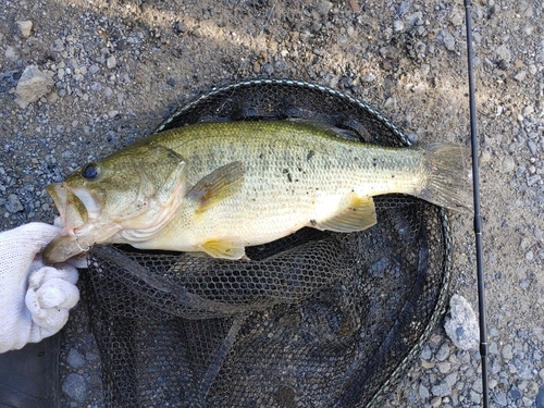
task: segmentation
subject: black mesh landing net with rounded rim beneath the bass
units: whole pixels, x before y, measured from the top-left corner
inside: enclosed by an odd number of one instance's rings
[[[158,132],[286,118],[409,145],[364,103],[289,81],[214,90]],[[305,228],[247,248],[250,261],[95,246],[82,279],[104,405],[379,406],[443,312],[450,243],[435,206],[387,195],[375,207],[378,224],[367,231]]]

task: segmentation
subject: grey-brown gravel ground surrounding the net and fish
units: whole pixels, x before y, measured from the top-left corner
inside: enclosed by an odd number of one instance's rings
[[[544,407],[544,4],[473,1],[490,395]],[[461,1],[3,0],[0,228],[51,222],[44,187],[150,133],[213,86],[289,77],[354,95],[416,141],[468,140]],[[468,217],[452,292],[475,308]],[[63,332],[63,407],[99,407],[79,305]],[[481,406],[480,357],[437,329],[385,407]]]

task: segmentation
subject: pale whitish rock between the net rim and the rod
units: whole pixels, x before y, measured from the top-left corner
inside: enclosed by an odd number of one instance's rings
[[[444,329],[452,342],[461,350],[478,348],[480,338],[478,320],[470,304],[462,296],[452,296]]]

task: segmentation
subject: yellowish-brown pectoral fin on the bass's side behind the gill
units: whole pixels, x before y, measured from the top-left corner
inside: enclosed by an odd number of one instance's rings
[[[202,177],[187,194],[187,199],[197,203],[196,212],[234,196],[244,185],[244,163],[234,161]]]

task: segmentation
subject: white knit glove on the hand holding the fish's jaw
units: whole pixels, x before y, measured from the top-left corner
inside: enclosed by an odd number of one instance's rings
[[[61,228],[29,223],[0,233],[0,353],[38,343],[66,323],[79,300],[77,270],[46,267],[41,251]]]

